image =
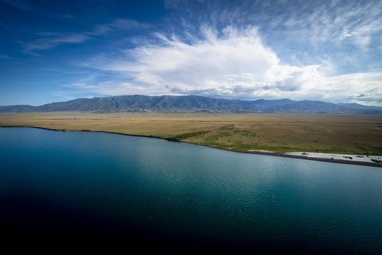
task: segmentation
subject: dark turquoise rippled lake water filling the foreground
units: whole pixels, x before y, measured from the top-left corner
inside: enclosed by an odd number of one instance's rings
[[[1,231],[266,252],[382,252],[382,170],[110,133],[0,129]]]

